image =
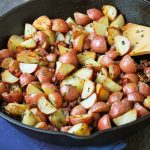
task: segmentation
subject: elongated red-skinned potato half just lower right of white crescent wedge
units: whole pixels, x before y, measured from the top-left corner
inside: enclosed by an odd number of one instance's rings
[[[91,113],[109,112],[110,105],[105,102],[96,102],[89,110]]]

